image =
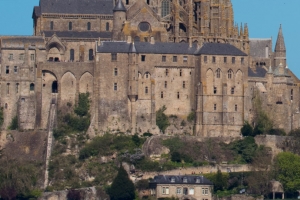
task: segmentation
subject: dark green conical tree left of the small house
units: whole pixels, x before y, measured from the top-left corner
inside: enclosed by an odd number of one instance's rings
[[[132,200],[135,198],[134,185],[122,165],[108,193],[111,200]]]

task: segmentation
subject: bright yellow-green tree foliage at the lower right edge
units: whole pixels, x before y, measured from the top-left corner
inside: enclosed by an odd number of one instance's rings
[[[296,192],[300,188],[300,156],[281,152],[274,160],[276,180],[283,184],[284,190]]]

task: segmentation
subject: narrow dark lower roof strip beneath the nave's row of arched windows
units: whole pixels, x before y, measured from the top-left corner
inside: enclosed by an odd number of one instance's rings
[[[56,34],[61,38],[111,38],[111,32],[96,32],[96,31],[44,31],[46,37],[51,37]]]

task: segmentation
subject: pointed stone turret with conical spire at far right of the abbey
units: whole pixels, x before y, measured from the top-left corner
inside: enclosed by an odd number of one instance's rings
[[[279,66],[280,63],[283,66],[286,66],[286,48],[285,48],[281,25],[279,28],[278,37],[275,46],[274,61],[275,61],[275,66]]]

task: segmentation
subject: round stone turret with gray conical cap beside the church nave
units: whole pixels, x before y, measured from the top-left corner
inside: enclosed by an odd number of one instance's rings
[[[123,23],[126,21],[126,8],[122,0],[118,0],[116,6],[113,9],[114,12],[114,26],[113,26],[113,36],[114,41],[121,40],[122,38],[122,27]]]

